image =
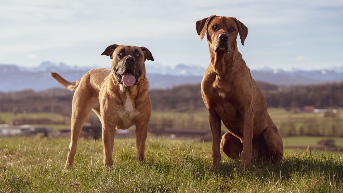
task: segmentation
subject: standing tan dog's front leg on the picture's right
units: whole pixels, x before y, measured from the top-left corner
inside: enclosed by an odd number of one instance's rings
[[[137,148],[137,160],[144,161],[145,140],[148,133],[148,125],[136,125],[136,148]]]

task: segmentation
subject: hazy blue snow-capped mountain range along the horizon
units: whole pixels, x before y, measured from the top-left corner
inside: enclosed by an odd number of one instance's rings
[[[96,67],[69,66],[64,63],[45,61],[37,67],[20,67],[17,65],[0,64],[0,91],[15,91],[24,89],[44,90],[61,87],[51,77],[50,71],[58,72],[69,81],[80,79],[88,70]],[[202,80],[205,68],[179,64],[175,67],[161,64],[146,64],[146,77],[150,88],[164,89],[180,84],[199,83]],[[289,71],[282,69],[263,68],[251,70],[252,77],[257,81],[273,84],[318,84],[343,81],[343,67],[322,70]]]

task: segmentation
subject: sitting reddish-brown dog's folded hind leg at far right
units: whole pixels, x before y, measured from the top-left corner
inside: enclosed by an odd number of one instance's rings
[[[275,128],[267,127],[262,134],[267,146],[269,159],[276,163],[279,162],[283,156],[283,144],[276,126]]]

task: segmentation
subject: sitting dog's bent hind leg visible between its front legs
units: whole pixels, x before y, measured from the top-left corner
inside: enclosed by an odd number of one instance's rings
[[[230,132],[226,132],[221,140],[220,148],[231,159],[237,159],[243,151],[243,144]]]

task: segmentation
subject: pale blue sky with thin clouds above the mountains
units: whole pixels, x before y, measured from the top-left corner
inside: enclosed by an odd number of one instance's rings
[[[209,65],[197,20],[235,16],[248,27],[248,67],[322,69],[343,66],[343,1],[5,0],[0,3],[0,63],[42,61],[109,67],[111,44],[145,46],[155,62]]]

